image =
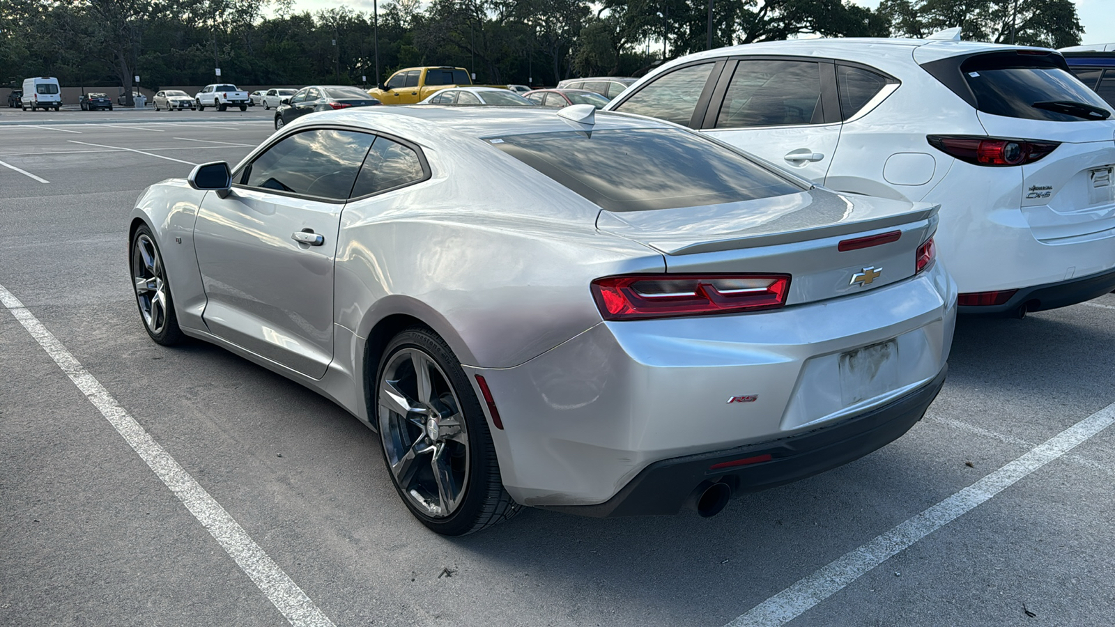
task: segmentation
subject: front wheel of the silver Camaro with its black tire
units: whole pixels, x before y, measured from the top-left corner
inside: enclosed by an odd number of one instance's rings
[[[132,272],[132,284],[135,286],[133,289],[136,295],[136,306],[139,308],[139,319],[147,335],[163,346],[173,346],[182,341],[185,336],[178,327],[178,316],[174,311],[174,298],[171,296],[171,283],[166,280],[163,254],[146,224],[142,224],[132,235],[128,245],[128,269]],[[148,288],[143,293],[137,283],[138,279],[147,279]]]

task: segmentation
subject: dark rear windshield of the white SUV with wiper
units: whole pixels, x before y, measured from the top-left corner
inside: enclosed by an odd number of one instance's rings
[[[966,60],[960,71],[976,96],[976,108],[983,113],[1054,122],[1106,118],[1111,114],[1107,103],[1060,68],[1057,59],[1053,55],[981,55]]]

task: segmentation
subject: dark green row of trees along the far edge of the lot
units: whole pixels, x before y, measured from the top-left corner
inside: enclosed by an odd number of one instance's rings
[[[293,0],[4,0],[0,80],[159,88],[376,84],[421,65],[468,68],[477,83],[554,85],[627,76],[714,47],[826,37],[924,37],[1063,47],[1083,29],[1072,0],[385,0],[297,11]],[[378,48],[378,73],[377,73]],[[4,77],[3,75],[7,75]]]

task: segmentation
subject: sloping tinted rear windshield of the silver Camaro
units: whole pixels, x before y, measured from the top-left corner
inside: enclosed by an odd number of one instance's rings
[[[803,191],[741,154],[678,128],[487,141],[608,211],[699,206]]]

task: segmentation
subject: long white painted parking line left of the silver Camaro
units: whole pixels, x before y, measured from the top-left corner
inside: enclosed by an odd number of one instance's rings
[[[334,627],[333,621],[293,580],[255,543],[221,503],[216,502],[178,462],[132,417],[58,338],[42,325],[14,295],[0,286],[0,302],[31,334],[55,364],[113,425],[125,442],[139,454],[163,483],[194,514],[194,518],[236,561],[268,600],[274,604],[295,627]]]

